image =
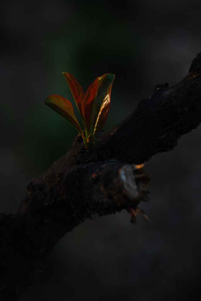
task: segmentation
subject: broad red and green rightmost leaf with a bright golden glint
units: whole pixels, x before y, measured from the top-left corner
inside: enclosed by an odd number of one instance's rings
[[[87,89],[84,98],[84,118],[90,136],[105,124],[110,108],[111,87],[114,74],[97,77]]]

